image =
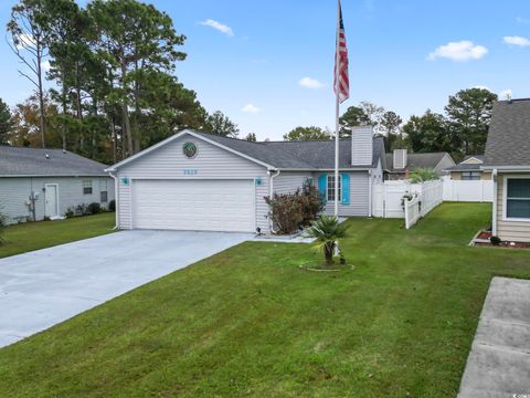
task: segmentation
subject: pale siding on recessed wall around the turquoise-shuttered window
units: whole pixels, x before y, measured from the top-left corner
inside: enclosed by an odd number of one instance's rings
[[[333,171],[314,172],[312,180],[318,187],[318,177],[322,174],[332,175]],[[369,211],[369,187],[370,180],[368,171],[350,171],[350,203],[342,205],[339,202],[340,217],[368,217]],[[335,213],[335,202],[326,203],[326,213],[331,216]]]

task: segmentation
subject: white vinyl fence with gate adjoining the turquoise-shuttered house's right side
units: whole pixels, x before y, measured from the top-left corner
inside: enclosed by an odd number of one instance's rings
[[[403,196],[407,193],[414,198],[402,205]],[[406,216],[405,224],[410,228],[443,200],[444,182],[442,180],[423,184],[410,184],[406,180],[384,181],[373,185],[372,216],[383,218],[405,218]]]

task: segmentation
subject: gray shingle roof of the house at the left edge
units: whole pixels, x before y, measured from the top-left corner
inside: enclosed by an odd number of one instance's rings
[[[107,176],[106,167],[61,149],[0,146],[0,176]]]

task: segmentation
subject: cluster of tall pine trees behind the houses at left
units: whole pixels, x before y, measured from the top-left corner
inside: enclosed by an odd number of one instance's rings
[[[170,17],[136,0],[20,0],[7,25],[34,95],[0,100],[0,144],[64,148],[113,163],[181,128],[237,136],[176,76],[186,36]],[[54,88],[44,90],[45,81]]]

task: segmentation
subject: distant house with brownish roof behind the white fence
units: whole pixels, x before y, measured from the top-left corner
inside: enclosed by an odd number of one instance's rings
[[[455,160],[448,153],[407,154],[406,149],[394,149],[392,154],[386,154],[385,179],[405,179],[418,168],[434,169],[443,175],[452,166],[455,166]]]

